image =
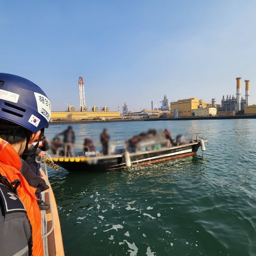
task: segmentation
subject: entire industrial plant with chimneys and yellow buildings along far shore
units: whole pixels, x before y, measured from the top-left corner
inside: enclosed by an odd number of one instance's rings
[[[202,99],[188,98],[180,99],[168,103],[167,95],[164,95],[160,101],[160,108],[153,108],[151,101],[151,110],[143,109],[141,111],[129,111],[127,104],[122,106],[122,114],[118,111],[110,111],[108,106],[98,108],[94,105],[91,110],[86,106],[84,93],[84,81],[79,77],[79,110],[76,111],[73,105],[68,105],[68,110],[63,112],[52,112],[51,121],[78,121],[78,120],[109,120],[122,118],[178,118],[178,117],[202,117],[202,116],[228,116],[228,115],[255,115],[256,105],[249,105],[250,102],[250,80],[245,81],[245,98],[241,97],[241,77],[237,77],[237,93],[227,95],[221,99],[221,104],[216,104],[216,98],[211,102],[204,102]]]

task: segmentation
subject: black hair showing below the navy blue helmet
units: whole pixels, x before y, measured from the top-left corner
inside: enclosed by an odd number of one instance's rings
[[[23,142],[28,136],[28,130],[23,127],[17,127],[10,130],[1,130],[0,129],[0,138],[6,140],[10,144],[16,144]],[[32,132],[31,132],[32,135]]]

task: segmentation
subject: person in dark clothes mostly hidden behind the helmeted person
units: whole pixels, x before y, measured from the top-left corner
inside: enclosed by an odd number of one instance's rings
[[[45,151],[49,150],[49,142],[46,140],[44,131],[41,131],[40,135],[37,137],[37,139],[32,143],[32,145],[29,144],[29,154],[27,159],[25,160],[32,172],[40,177],[40,163],[36,162],[36,157],[44,157]],[[42,200],[41,193],[36,193],[36,197],[38,198],[37,204],[39,206],[40,210],[48,210],[50,209],[50,205],[46,204]]]

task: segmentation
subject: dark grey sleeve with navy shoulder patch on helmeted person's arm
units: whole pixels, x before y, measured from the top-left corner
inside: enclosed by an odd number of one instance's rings
[[[26,209],[22,201],[2,183],[0,206],[0,254],[32,255],[32,229]]]

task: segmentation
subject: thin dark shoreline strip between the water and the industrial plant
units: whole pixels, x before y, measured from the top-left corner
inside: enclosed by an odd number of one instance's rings
[[[80,120],[80,121],[52,121],[50,125],[70,123],[114,123],[114,122],[138,122],[138,121],[179,121],[179,120],[219,120],[219,119],[256,119],[256,115],[241,116],[205,116],[205,117],[166,117],[166,118],[143,118],[143,119],[111,119],[111,120]]]

